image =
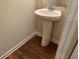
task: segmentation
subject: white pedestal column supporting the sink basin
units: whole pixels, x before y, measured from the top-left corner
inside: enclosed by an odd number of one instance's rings
[[[41,45],[43,47],[47,46],[51,40],[52,23],[50,21],[43,21],[43,36]]]

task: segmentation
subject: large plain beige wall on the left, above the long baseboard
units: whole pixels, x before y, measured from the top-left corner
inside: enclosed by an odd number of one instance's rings
[[[0,0],[0,56],[35,31],[35,0]]]

